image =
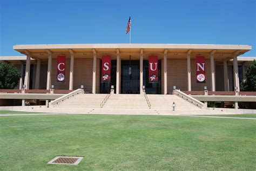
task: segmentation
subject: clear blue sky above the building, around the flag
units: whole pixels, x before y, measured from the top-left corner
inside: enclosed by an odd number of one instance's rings
[[[0,0],[0,56],[16,44],[245,44],[256,57],[256,0]]]

